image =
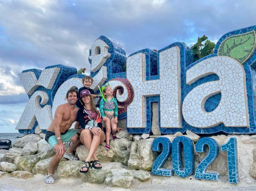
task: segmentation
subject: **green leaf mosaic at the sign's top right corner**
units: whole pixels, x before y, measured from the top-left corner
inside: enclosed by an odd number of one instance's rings
[[[231,36],[220,44],[218,56],[228,56],[243,64],[253,53],[255,42],[255,31]]]

